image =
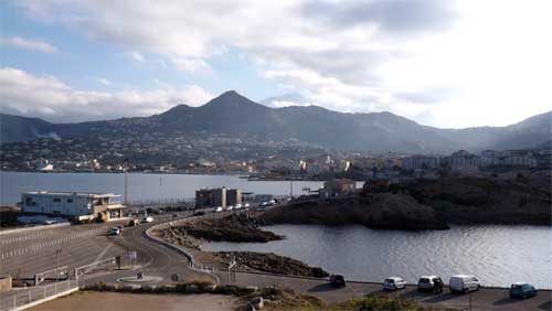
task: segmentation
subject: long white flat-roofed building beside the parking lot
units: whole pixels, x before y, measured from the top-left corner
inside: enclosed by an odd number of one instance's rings
[[[112,221],[123,216],[120,195],[113,193],[24,192],[20,207],[25,213],[67,216],[75,221]]]

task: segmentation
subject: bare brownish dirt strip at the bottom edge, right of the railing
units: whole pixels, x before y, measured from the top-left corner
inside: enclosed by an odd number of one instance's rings
[[[223,294],[146,294],[81,291],[28,310],[233,310],[236,298]]]

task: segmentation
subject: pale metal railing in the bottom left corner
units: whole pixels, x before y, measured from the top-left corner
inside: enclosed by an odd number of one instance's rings
[[[64,280],[44,286],[13,289],[0,296],[0,311],[21,310],[29,304],[43,301],[56,294],[70,292],[78,288],[76,280]]]

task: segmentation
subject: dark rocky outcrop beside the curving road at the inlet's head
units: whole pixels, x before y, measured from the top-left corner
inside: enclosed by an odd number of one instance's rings
[[[190,235],[214,242],[270,242],[284,238],[272,232],[262,230],[256,218],[250,218],[244,214],[198,219],[173,229],[180,232],[181,236]]]

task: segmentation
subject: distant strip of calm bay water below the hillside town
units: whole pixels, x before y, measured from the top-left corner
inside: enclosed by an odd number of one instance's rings
[[[294,195],[302,187],[318,189],[321,182],[295,181]],[[251,181],[233,175],[128,174],[128,200],[193,197],[204,186],[237,187],[257,194],[289,194],[286,181]],[[0,172],[0,204],[21,201],[25,191],[84,191],[125,193],[125,174]]]

